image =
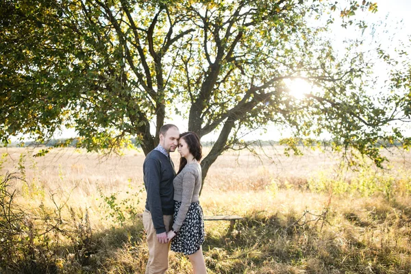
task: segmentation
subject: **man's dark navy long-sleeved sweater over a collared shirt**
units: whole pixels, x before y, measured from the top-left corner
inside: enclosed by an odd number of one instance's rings
[[[151,213],[155,232],[166,232],[163,215],[174,213],[173,179],[175,170],[166,155],[158,150],[150,151],[142,166],[147,191],[145,208]]]

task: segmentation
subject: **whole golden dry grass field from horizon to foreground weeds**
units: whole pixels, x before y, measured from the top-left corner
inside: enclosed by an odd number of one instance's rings
[[[0,273],[144,273],[142,151],[0,152]],[[411,153],[358,172],[304,153],[231,151],[213,164],[204,213],[244,219],[233,231],[206,221],[208,273],[411,273]],[[171,252],[168,273],[191,273],[188,259]]]

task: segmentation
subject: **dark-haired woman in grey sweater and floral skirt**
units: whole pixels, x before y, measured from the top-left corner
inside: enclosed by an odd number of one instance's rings
[[[201,245],[204,242],[201,188],[201,143],[194,132],[180,134],[178,152],[182,156],[174,185],[174,223],[167,234],[171,250],[188,255],[195,274],[207,273]]]

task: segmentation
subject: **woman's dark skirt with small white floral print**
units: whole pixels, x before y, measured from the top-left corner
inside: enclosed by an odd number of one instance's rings
[[[174,201],[174,221],[177,218],[177,213],[181,205],[181,201]],[[199,251],[203,242],[203,209],[197,201],[190,204],[190,208],[188,208],[186,219],[184,219],[182,227],[171,241],[171,250],[184,253],[185,255],[191,255]]]

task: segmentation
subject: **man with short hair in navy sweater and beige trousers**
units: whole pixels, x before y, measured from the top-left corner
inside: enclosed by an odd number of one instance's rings
[[[167,124],[160,128],[160,143],[150,151],[142,166],[147,191],[142,224],[147,233],[149,260],[146,274],[165,273],[169,268],[167,232],[173,225],[175,169],[170,152],[178,145],[179,129]]]

